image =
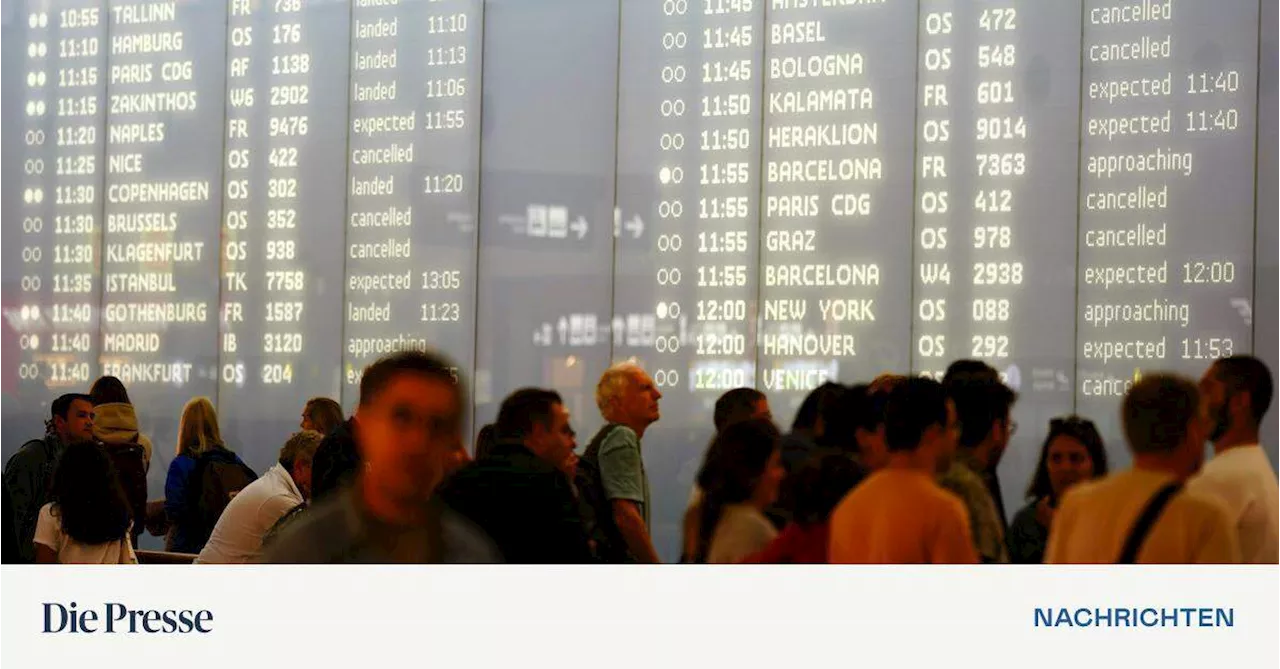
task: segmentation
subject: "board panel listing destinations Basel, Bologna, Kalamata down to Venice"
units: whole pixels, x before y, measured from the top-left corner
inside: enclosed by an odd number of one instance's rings
[[[760,371],[791,416],[910,361],[915,3],[771,4]]]

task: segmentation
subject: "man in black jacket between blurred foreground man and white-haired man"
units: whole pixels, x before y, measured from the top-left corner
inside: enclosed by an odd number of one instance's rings
[[[440,490],[453,510],[497,544],[508,563],[591,562],[571,484],[575,435],[554,390],[526,388],[502,403],[497,443]]]

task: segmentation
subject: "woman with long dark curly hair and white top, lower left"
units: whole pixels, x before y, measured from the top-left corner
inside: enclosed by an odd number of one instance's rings
[[[102,446],[67,446],[49,499],[36,523],[36,562],[137,564],[129,503]]]

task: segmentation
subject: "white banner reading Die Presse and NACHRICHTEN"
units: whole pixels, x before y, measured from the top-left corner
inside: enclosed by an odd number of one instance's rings
[[[5,666],[1203,669],[1277,634],[1276,567],[0,568]]]

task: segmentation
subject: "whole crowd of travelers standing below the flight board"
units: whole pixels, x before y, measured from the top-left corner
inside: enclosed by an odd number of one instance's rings
[[[1038,464],[1010,519],[996,472],[1018,395],[983,362],[959,361],[941,381],[824,384],[787,431],[765,394],[730,390],[709,417],[680,562],[1276,564],[1280,481],[1260,444],[1272,394],[1251,356],[1198,381],[1143,376],[1120,409],[1123,471],[1091,420],[1037,426]],[[195,398],[152,501],[155,445],[124,385],[104,376],[56,398],[45,434],[9,458],[0,562],[148,562],[143,532],[165,537],[159,555],[197,564],[660,562],[644,444],[662,393],[641,367],[603,374],[605,425],[582,449],[545,388],[508,395],[468,448],[466,398],[444,357],[384,357],[349,416],[307,402],[261,475]]]

